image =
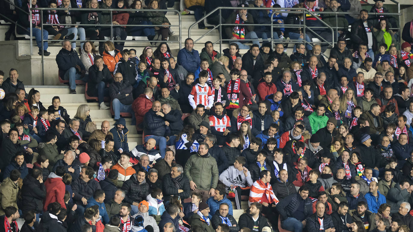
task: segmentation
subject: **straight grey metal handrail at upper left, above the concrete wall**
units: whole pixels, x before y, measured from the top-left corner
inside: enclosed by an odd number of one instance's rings
[[[36,9],[36,10],[39,10],[40,11],[40,19],[42,19],[42,20],[40,20],[40,23],[41,23],[41,28],[43,29],[43,25],[44,25],[44,23],[43,23],[43,11],[45,11],[45,10],[57,10],[57,11],[66,11],[66,10],[69,10],[69,11],[86,11],[86,12],[90,12],[90,11],[94,11],[94,12],[110,12],[110,18],[112,19],[112,13],[114,12],[114,11],[116,11],[116,12],[119,12],[119,11],[121,11],[121,12],[135,12],[137,9],[105,9],[105,8],[69,8],[69,9],[67,9],[67,8],[50,8],[50,7],[36,7],[36,8],[30,8],[30,10],[33,10],[33,9]],[[168,27],[172,27],[172,26],[178,26],[179,27],[179,35],[178,35],[178,40],[169,40],[168,42],[178,42],[179,43],[179,49],[181,49],[182,48],[182,26],[181,26],[181,14],[180,14],[180,12],[178,11],[178,10],[176,10],[176,9],[139,9],[140,11],[142,11],[142,12],[145,12],[145,11],[147,11],[147,12],[151,12],[151,11],[153,11],[153,12],[158,12],[158,11],[163,11],[163,12],[176,12],[177,14],[178,14],[178,25],[169,25]],[[54,26],[54,25],[62,25],[62,26],[93,26],[92,24],[76,24],[76,23],[70,23],[70,24],[68,24],[68,23],[66,23],[66,24],[49,24],[49,23],[47,23],[46,24],[47,26]],[[112,28],[113,28],[113,24],[99,24],[99,26],[102,26],[102,27],[109,27],[110,26],[110,41],[113,43],[114,42],[114,40],[113,40],[113,35],[112,35]],[[135,26],[145,26],[145,27],[147,27],[148,25],[116,25],[116,26],[125,26],[125,27],[135,27]],[[165,25],[150,25],[150,26],[153,26],[153,27],[155,27],[155,26],[158,26],[158,27],[161,27],[161,26],[165,26]],[[42,33],[42,51],[44,50],[44,48],[43,48],[43,42],[44,42],[44,40],[43,40],[43,30],[41,30],[41,33]],[[30,23],[30,37],[32,38],[32,36],[33,36],[33,28],[32,28],[32,24]],[[32,41],[32,40],[31,40]],[[46,40],[46,41],[58,41],[58,40]],[[80,41],[80,42],[85,42],[85,41],[87,41],[87,40],[76,40],[76,41]],[[106,41],[106,40],[95,40],[94,42],[104,42],[104,41]],[[148,41],[148,40],[134,40],[135,42],[157,42],[157,41],[154,41],[154,40],[150,40],[150,41]],[[116,42],[132,42],[131,40],[116,40]],[[30,46],[30,49],[31,49],[31,55],[33,55],[32,54],[32,44],[31,44],[31,46]],[[43,55],[43,53],[42,53],[42,84],[44,84],[44,82],[45,82],[45,80],[44,80],[44,55]]]

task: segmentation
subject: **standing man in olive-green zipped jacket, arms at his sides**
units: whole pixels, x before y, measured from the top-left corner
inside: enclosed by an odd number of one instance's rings
[[[209,146],[207,143],[199,144],[197,154],[189,157],[184,169],[191,189],[195,192],[200,192],[203,199],[208,199],[209,195],[215,195],[215,188],[218,183],[216,160],[211,157],[208,150]],[[199,172],[199,170],[202,171]]]

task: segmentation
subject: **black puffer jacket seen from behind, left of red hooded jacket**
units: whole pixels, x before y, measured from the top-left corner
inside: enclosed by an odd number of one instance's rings
[[[21,211],[26,213],[33,210],[36,213],[41,213],[43,209],[43,199],[46,197],[46,187],[44,183],[40,183],[33,176],[28,175],[24,178],[23,186],[21,187]]]

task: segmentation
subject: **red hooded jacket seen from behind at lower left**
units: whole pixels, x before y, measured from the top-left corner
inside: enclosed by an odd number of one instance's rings
[[[60,205],[66,209],[64,204],[64,193],[66,192],[66,185],[64,185],[62,178],[55,173],[50,173],[49,178],[45,181],[46,199],[43,206],[43,211],[47,211],[47,206],[52,202],[59,202]]]

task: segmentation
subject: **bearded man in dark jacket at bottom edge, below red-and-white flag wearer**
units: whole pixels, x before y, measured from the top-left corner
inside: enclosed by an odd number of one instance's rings
[[[253,231],[254,228],[257,229],[255,222],[258,221],[258,232],[263,231],[263,227],[269,227],[267,219],[261,214],[262,204],[258,202],[251,203],[249,209],[246,213],[243,213],[238,219],[238,225],[240,228],[248,228],[250,231]],[[242,231],[242,229],[241,229]]]

